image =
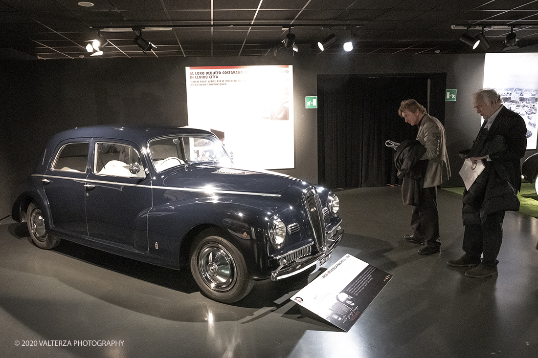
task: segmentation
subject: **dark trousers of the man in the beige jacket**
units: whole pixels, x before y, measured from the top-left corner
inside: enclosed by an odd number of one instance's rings
[[[411,215],[411,228],[416,239],[428,245],[441,245],[439,241],[439,213],[437,212],[437,187],[422,188],[420,204]]]

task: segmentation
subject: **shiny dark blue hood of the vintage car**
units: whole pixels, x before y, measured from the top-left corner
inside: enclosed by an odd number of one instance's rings
[[[190,164],[164,174],[172,188],[279,193],[300,180],[268,170],[245,170],[208,164]]]

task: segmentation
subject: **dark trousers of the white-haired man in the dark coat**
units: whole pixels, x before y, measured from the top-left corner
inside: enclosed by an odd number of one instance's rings
[[[484,264],[496,265],[502,243],[504,216],[505,211],[496,211],[487,215],[482,224],[465,225],[464,252],[475,258],[479,258],[484,253]]]

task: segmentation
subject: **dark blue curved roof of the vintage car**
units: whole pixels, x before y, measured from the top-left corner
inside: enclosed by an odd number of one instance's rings
[[[77,127],[55,134],[49,143],[56,145],[58,142],[73,138],[109,138],[124,139],[146,144],[148,140],[166,135],[185,134],[209,134],[209,131],[197,128],[166,126],[166,125],[98,125]]]

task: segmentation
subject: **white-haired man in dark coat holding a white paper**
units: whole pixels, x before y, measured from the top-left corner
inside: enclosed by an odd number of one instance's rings
[[[519,210],[516,194],[521,188],[520,160],[527,149],[527,127],[518,113],[502,105],[494,89],[479,90],[473,94],[473,103],[484,124],[465,157],[473,163],[483,161],[485,168],[463,196],[465,254],[448,264],[473,267],[465,275],[484,278],[497,276],[505,212]]]

